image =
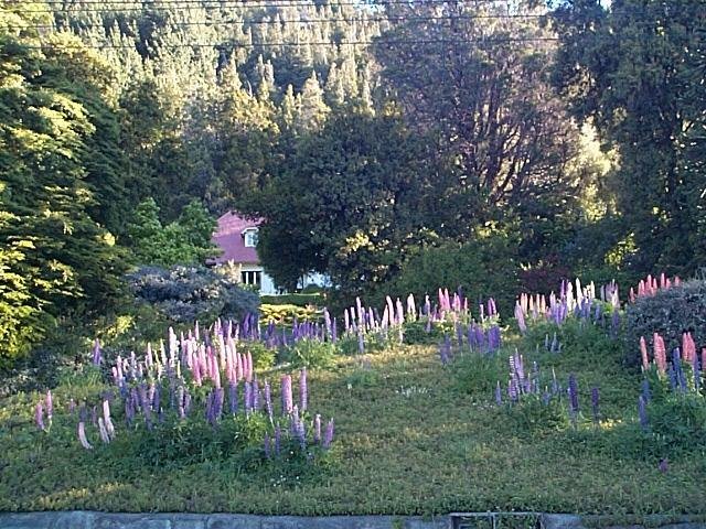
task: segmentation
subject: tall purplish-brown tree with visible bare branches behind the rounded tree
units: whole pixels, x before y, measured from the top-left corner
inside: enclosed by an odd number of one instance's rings
[[[402,22],[385,37],[418,45],[381,39],[373,53],[407,122],[431,132],[432,155],[446,168],[435,183],[447,206],[436,212],[445,235],[468,236],[469,228],[498,218],[495,206],[504,216],[525,209],[526,218],[550,223],[550,212],[558,215],[573,202],[580,175],[569,170],[578,131],[548,84],[545,30],[494,18],[501,7],[442,9],[450,24],[422,26],[416,20],[438,15],[436,6],[391,4],[388,12]],[[517,9],[532,9],[532,2],[517,2]]]

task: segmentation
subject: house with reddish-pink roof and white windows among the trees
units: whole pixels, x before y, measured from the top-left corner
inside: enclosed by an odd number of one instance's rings
[[[233,263],[240,268],[240,282],[256,285],[261,294],[276,294],[272,278],[265,272],[257,257],[257,234],[260,219],[247,219],[236,212],[228,212],[217,220],[213,242],[223,252],[213,259],[214,264]]]

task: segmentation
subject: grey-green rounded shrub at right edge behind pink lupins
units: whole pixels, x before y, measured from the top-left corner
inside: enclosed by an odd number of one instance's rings
[[[651,343],[654,333],[664,337],[667,352],[681,347],[682,334],[691,332],[697,346],[706,346],[706,281],[688,281],[641,296],[625,314],[625,360],[640,364],[640,337]]]

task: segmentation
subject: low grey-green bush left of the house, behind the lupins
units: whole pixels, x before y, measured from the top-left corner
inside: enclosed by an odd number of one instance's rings
[[[206,268],[142,267],[128,279],[138,300],[154,305],[174,322],[239,321],[257,313],[259,306],[256,293]]]

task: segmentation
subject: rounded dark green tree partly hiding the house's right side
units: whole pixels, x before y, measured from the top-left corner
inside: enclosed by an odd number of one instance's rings
[[[397,117],[355,112],[302,139],[244,204],[266,219],[258,251],[278,284],[293,288],[319,271],[350,293],[394,277],[430,213],[420,204],[416,144]]]

